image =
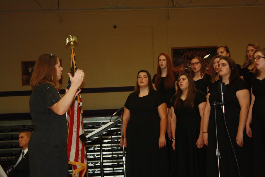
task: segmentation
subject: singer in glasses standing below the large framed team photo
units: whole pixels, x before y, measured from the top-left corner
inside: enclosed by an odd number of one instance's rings
[[[191,59],[191,77],[193,77],[196,89],[206,96],[208,86],[211,84],[211,76],[206,73],[201,57]]]

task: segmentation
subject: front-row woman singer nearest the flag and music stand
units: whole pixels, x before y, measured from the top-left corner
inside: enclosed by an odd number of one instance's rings
[[[153,90],[149,72],[141,70],[136,91],[128,96],[123,113],[126,176],[169,176],[166,129],[167,105]]]

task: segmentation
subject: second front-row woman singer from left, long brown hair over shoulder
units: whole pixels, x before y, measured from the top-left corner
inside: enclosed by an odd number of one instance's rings
[[[176,176],[205,176],[202,117],[206,98],[196,90],[191,75],[180,74],[171,106],[172,147],[176,151]]]

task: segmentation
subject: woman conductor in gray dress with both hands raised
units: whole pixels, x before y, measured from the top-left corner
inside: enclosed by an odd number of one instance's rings
[[[74,77],[68,73],[71,87],[61,98],[58,90],[62,70],[58,57],[53,54],[42,54],[34,66],[29,99],[34,123],[28,147],[31,177],[68,176],[66,112],[80,92],[77,89],[83,82],[84,72],[77,70]]]

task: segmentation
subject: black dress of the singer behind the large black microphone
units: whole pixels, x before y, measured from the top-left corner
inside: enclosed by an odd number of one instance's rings
[[[218,82],[216,81],[209,89],[209,102],[211,105],[211,112],[208,125],[208,149],[207,149],[207,176],[217,176],[217,162],[216,162],[216,137],[215,137],[215,121],[214,121],[214,106],[213,101],[219,101]],[[226,90],[226,105],[225,105],[225,118],[227,128],[231,137],[233,148],[236,153],[239,171],[241,177],[250,177],[252,175],[252,157],[251,157],[251,141],[246,135],[244,130],[243,147],[236,144],[236,135],[239,124],[240,105],[236,97],[236,92],[239,90],[247,89],[246,82],[237,78],[234,83],[225,85]],[[220,169],[221,176],[237,177],[238,171],[236,161],[232,152],[231,145],[226,133],[225,123],[223,120],[223,113],[221,106],[216,107],[216,119],[218,130],[218,144],[220,148]]]

